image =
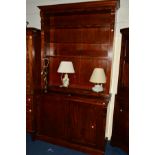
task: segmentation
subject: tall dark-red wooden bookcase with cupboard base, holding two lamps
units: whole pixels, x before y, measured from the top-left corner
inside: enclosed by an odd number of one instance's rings
[[[39,6],[41,15],[42,94],[36,104],[36,138],[89,154],[103,154],[117,0]],[[57,72],[72,61],[68,88]],[[104,92],[89,82],[104,68]],[[43,91],[44,90],[44,91]]]

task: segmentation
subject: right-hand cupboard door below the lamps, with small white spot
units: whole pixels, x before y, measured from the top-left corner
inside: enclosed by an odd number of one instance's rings
[[[84,99],[69,99],[69,139],[76,144],[83,144],[103,150],[105,112],[103,105],[93,105]]]

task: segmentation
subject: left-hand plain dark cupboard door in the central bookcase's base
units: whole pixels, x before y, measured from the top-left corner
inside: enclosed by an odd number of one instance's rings
[[[42,95],[38,105],[39,135],[46,135],[58,139],[66,139],[68,134],[68,104],[60,94]]]

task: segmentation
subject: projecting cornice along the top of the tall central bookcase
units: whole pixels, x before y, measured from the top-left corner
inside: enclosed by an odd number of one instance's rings
[[[38,6],[39,9],[48,14],[62,14],[73,12],[93,12],[98,11],[102,13],[115,12],[119,8],[120,0],[103,0],[103,1],[91,1],[91,2],[78,2],[68,4],[56,4]]]

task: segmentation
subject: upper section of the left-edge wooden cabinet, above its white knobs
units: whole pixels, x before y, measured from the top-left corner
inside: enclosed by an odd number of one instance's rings
[[[40,89],[41,85],[41,33],[35,28],[26,32],[26,86],[27,93]]]

